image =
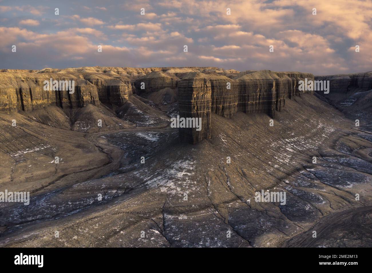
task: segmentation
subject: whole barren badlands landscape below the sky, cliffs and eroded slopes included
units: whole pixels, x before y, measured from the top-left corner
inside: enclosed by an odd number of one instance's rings
[[[50,78],[74,93],[44,91]],[[0,192],[30,192],[0,203],[0,246],[371,247],[372,72],[315,76],[329,94],[299,91],[305,78],[0,70]]]

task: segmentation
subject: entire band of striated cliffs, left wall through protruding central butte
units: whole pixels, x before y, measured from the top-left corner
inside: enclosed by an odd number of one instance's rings
[[[45,91],[44,81],[51,78],[74,80],[74,92]],[[179,129],[181,142],[195,144],[211,137],[211,113],[231,118],[241,111],[266,113],[275,118],[275,112],[285,106],[286,98],[305,92],[298,89],[298,82],[305,78],[314,80],[308,73],[239,72],[217,67],[1,69],[0,112],[28,112],[49,105],[74,109],[89,104],[99,106],[100,103],[116,111],[128,104],[134,94],[154,105],[170,105],[178,100],[181,118],[202,119],[200,131]],[[367,88],[369,82],[349,77],[344,84]],[[121,110],[119,113],[125,115],[126,112]],[[135,115],[139,113],[133,111]]]

